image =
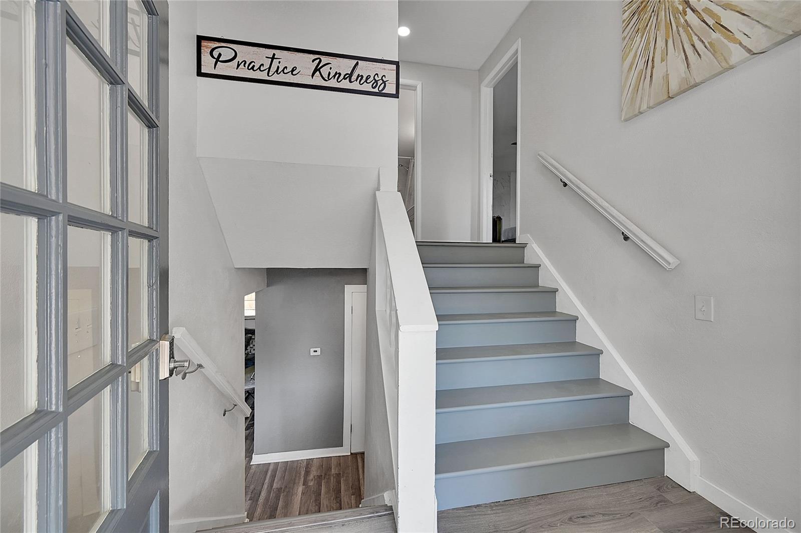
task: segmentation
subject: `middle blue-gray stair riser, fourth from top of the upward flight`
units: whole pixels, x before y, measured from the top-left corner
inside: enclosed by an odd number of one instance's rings
[[[575,320],[440,323],[437,348],[562,343],[576,339]]]

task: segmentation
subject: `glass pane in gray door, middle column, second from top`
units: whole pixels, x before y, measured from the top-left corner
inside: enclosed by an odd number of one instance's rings
[[[66,195],[103,213],[111,213],[110,98],[106,80],[67,39]]]

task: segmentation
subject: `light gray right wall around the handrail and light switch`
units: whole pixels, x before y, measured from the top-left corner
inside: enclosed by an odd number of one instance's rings
[[[621,122],[620,35],[618,2],[533,2],[481,67],[521,38],[520,232],[698,455],[701,494],[798,522],[801,40]],[[539,150],[682,263],[623,242]]]

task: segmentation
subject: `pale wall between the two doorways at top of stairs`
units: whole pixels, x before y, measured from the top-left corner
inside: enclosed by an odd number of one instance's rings
[[[478,240],[478,72],[400,63],[400,78],[423,82],[421,240]]]

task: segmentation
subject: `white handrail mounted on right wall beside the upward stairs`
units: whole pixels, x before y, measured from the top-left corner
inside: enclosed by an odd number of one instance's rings
[[[678,258],[676,258],[674,254],[671,254],[664,248],[664,246],[654,241],[653,238],[650,238],[650,236],[636,226],[634,222],[631,222],[628,218],[624,217],[620,211],[615,209],[613,206],[610,206],[609,202],[606,202],[606,200],[598,196],[594,190],[582,183],[582,181],[576,178],[573,174],[570,174],[570,172],[568,172],[564,166],[553,161],[553,158],[551,158],[548,154],[545,154],[545,152],[540,152],[537,154],[537,158],[542,162],[542,164],[547,166],[553,172],[553,174],[557,175],[557,177],[562,181],[563,186],[570,186],[570,188],[575,190],[579,196],[589,202],[590,206],[593,206],[601,214],[603,214],[607,220],[617,226],[618,230],[621,230],[623,234],[623,240],[628,241],[631,239],[632,241],[636,242],[637,245],[643,250],[646,250],[646,253],[654,258],[656,262],[664,266],[665,270],[672,271],[676,265],[678,265]]]

